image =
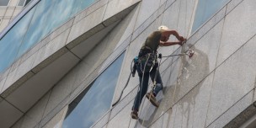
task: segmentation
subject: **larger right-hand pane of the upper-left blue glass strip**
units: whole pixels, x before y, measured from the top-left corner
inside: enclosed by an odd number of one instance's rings
[[[19,56],[49,35],[54,29],[71,19],[78,11],[87,8],[95,0],[41,0],[35,11]]]

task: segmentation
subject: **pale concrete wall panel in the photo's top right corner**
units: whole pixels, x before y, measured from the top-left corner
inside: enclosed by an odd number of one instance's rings
[[[254,22],[256,17],[253,14],[256,13],[255,6],[255,1],[244,0],[231,13],[227,14],[217,61],[218,65],[256,34],[256,29],[253,29],[256,28]]]

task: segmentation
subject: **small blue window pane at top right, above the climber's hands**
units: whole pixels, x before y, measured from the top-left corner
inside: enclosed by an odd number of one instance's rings
[[[200,25],[204,24],[214,13],[223,7],[229,0],[199,0],[195,20],[192,27],[192,32],[198,29]]]

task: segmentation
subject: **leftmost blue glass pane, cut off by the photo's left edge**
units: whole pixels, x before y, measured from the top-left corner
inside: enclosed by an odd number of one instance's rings
[[[19,46],[34,12],[35,8],[20,19],[19,22],[8,31],[8,34],[4,35],[3,39],[0,40],[0,72],[3,72],[15,61]]]

